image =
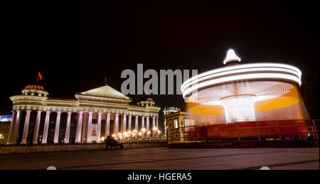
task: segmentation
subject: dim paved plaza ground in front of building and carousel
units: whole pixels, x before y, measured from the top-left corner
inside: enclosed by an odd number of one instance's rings
[[[0,169],[317,169],[319,148],[124,148],[0,155]]]

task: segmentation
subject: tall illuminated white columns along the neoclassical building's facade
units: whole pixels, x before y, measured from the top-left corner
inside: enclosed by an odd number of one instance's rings
[[[18,135],[18,130],[19,130],[19,124],[20,124],[20,119],[21,119],[21,113],[22,110],[17,110],[13,112],[13,119],[11,121],[11,126],[9,129],[9,137],[7,144],[16,144],[16,139]],[[71,114],[73,112],[68,112],[68,119],[67,119],[67,124],[65,127],[65,144],[69,143],[70,139],[70,122],[71,122]],[[87,143],[91,143],[91,126],[92,126],[92,114],[93,112],[88,112],[89,113],[89,118],[88,118],[88,124],[87,124]],[[110,135],[110,113],[106,114],[106,121],[105,121],[105,136]],[[28,138],[28,127],[29,127],[29,122],[30,122],[30,117],[31,117],[31,110],[26,110],[26,119],[24,121],[23,125],[23,134],[22,134],[22,139],[20,144],[26,144],[27,138]],[[61,117],[61,112],[57,112],[57,119],[55,121],[55,134],[53,138],[53,143],[58,144],[58,138],[59,138],[59,129],[60,129],[60,117]],[[146,127],[144,126],[144,118],[146,118]],[[98,118],[97,118],[97,142],[100,142],[100,137],[101,137],[101,120],[102,120],[102,113],[98,112]],[[139,116],[135,116],[135,126],[134,128],[138,131],[138,120]],[[41,111],[37,112],[36,116],[36,124],[34,127],[34,132],[33,132],[33,144],[38,144],[38,132],[39,132],[39,127],[40,127],[40,121],[41,121]],[[47,144],[47,139],[48,139],[48,130],[49,130],[49,123],[50,123],[50,111],[46,111],[46,119],[45,119],[45,124],[43,128],[43,136],[41,143],[42,144]],[[75,142],[76,143],[81,143],[82,140],[82,126],[83,126],[83,112],[78,113],[78,121],[77,121],[77,128],[76,128],[76,133],[75,133]],[[153,117],[152,118],[152,127],[158,127],[158,118]],[[127,131],[127,114],[123,114],[122,118],[122,126],[121,126],[121,131]],[[149,131],[149,117],[142,117],[142,128],[146,128],[146,132]],[[132,131],[132,115],[128,116],[128,131]],[[114,118],[114,134],[119,133],[119,114],[115,114]]]

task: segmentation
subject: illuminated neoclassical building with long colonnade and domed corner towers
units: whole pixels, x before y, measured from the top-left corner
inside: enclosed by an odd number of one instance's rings
[[[28,85],[10,97],[14,105],[7,144],[89,144],[158,126],[161,108],[150,97],[132,105],[131,98],[108,85],[78,92],[75,99],[48,94],[41,85]]]

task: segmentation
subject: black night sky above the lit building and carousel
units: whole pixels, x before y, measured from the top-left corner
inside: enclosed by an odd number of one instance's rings
[[[157,71],[223,67],[230,47],[243,63],[288,63],[304,77],[319,70],[315,4],[146,2],[4,3],[0,114],[11,114],[9,97],[35,84],[38,71],[50,97],[73,98],[104,85],[105,75],[120,90],[122,70],[137,63]],[[181,95],[153,98],[162,108],[183,104]]]

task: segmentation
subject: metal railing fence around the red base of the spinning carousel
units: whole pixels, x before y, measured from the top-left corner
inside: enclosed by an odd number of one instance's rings
[[[319,119],[246,121],[235,124],[184,126],[168,131],[168,142],[319,140]]]

